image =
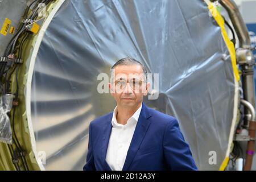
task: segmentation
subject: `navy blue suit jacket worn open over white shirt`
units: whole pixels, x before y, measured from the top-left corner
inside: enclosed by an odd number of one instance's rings
[[[95,119],[89,126],[88,154],[84,170],[111,170],[106,162],[112,113]],[[197,170],[177,120],[142,104],[123,171]]]

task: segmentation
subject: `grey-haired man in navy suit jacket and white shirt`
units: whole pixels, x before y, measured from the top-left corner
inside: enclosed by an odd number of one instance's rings
[[[127,57],[111,71],[117,106],[90,123],[84,170],[196,170],[177,120],[143,104],[150,86],[144,66]]]

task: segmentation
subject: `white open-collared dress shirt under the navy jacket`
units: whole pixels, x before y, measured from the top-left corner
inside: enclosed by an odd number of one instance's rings
[[[125,125],[119,124],[115,117],[118,113],[117,106],[114,109],[112,117],[112,132],[109,138],[109,145],[106,154],[106,162],[113,171],[121,171],[127,151],[129,149],[134,130],[137,125],[141,107],[127,120]]]

